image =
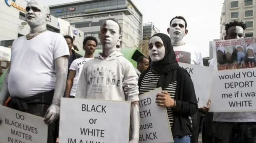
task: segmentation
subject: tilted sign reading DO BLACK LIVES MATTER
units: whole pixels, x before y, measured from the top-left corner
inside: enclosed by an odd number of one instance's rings
[[[0,106],[0,143],[47,143],[44,118]]]

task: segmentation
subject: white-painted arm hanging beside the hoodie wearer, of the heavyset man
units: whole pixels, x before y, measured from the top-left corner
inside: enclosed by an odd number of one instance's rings
[[[50,124],[60,115],[60,98],[63,97],[68,76],[68,56],[59,57],[54,62],[56,81],[52,105],[48,108],[44,121]]]

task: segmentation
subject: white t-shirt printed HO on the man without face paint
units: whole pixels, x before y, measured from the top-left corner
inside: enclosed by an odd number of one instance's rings
[[[70,65],[70,68],[69,70],[74,70],[76,71],[76,75],[75,75],[75,78],[73,80],[73,85],[72,85],[72,88],[70,90],[70,96],[75,96],[76,95],[76,86],[77,86],[77,83],[78,83],[78,79],[79,79],[79,76],[80,76],[80,70],[83,69],[83,65],[89,61],[90,59],[93,59],[93,58],[85,58],[85,57],[81,57],[81,58],[78,58],[78,59],[75,59],[71,65]]]

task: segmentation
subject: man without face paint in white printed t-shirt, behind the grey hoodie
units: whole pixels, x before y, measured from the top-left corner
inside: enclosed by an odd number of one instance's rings
[[[89,61],[90,59],[93,59],[94,52],[97,47],[97,39],[92,36],[88,36],[83,41],[83,49],[85,51],[84,57],[75,59],[69,68],[69,75],[68,75],[68,81],[66,85],[66,96],[74,98],[76,95],[76,85],[80,76],[80,71],[82,70],[82,67],[84,63]]]

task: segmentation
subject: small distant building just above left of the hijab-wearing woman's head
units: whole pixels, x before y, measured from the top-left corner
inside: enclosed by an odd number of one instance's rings
[[[143,40],[150,38],[152,35],[159,33],[160,30],[152,22],[143,24]]]

